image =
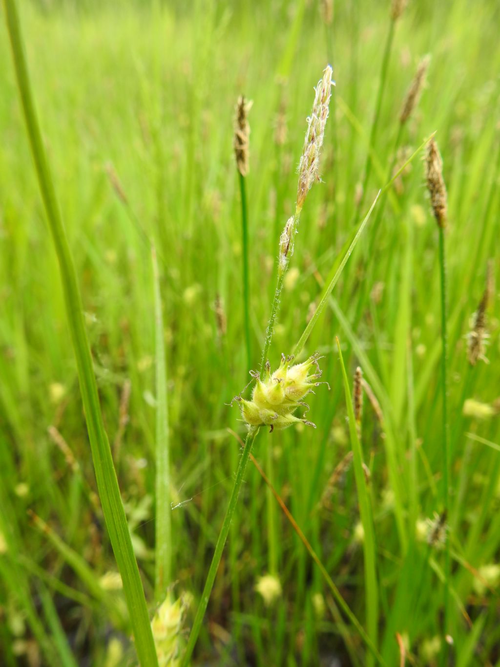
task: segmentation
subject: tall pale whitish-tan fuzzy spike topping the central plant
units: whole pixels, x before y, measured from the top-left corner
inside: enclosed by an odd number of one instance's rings
[[[305,135],[302,156],[299,162],[299,186],[297,188],[297,209],[303,206],[305,197],[318,177],[319,151],[323,144],[325,125],[327,123],[333,70],[327,65],[323,79],[315,88],[315,99],[311,115],[307,119],[307,133]]]

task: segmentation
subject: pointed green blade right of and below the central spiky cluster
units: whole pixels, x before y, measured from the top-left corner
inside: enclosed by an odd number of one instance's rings
[[[371,516],[369,494],[363,472],[363,452],[361,443],[356,432],[356,420],[351,400],[351,390],[349,380],[345,372],[344,360],[340,349],[340,342],[337,338],[337,348],[339,349],[339,358],[342,368],[344,381],[345,401],[347,403],[347,416],[349,418],[349,435],[351,437],[351,447],[353,448],[353,465],[356,479],[357,496],[359,502],[359,514],[361,524],[365,532],[363,540],[363,553],[365,555],[365,586],[366,586],[366,614],[368,635],[375,647],[377,646],[377,628],[379,624],[379,592],[377,586],[377,572],[375,568],[375,534],[373,531],[373,520]],[[373,664],[373,656],[367,656],[367,665]]]

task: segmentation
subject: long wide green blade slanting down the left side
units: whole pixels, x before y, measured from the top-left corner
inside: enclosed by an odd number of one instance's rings
[[[113,467],[111,448],[104,429],[91,351],[83,319],[81,295],[35,111],[17,6],[15,0],[4,0],[3,6],[31,154],[35,162],[39,187],[61,271],[61,284],[77,362],[80,392],[87,421],[99,498],[103,506],[111,546],[123,580],[123,592],[129,609],[137,656],[139,662],[144,666],[155,666],[157,665],[157,657],[149,624],[149,614],[139,576],[139,568],[132,548],[127,518],[121,501],[118,480]]]

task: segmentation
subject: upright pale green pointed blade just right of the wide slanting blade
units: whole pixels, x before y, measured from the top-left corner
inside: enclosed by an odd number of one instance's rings
[[[163,602],[172,577],[172,519],[170,492],[169,413],[165,333],[161,311],[160,278],[154,245],[151,247],[155,293],[155,373],[156,373],[156,535],[155,598]]]

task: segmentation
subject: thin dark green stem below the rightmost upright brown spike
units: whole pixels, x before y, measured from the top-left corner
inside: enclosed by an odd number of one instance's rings
[[[448,519],[449,514],[449,461],[448,461],[448,414],[447,414],[447,323],[446,323],[446,255],[445,255],[445,230],[439,225],[439,274],[441,279],[441,392],[443,402],[443,512]],[[448,658],[449,644],[446,641],[446,635],[449,629],[449,586],[450,586],[450,555],[449,538],[445,542],[445,618],[444,632],[445,641],[443,642],[443,653],[441,654],[441,664],[445,665]]]

